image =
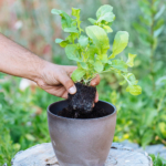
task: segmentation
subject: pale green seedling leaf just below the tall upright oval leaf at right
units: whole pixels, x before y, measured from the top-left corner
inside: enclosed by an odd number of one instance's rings
[[[122,71],[122,72],[127,72],[127,64],[122,60],[113,60],[112,66],[114,69]]]

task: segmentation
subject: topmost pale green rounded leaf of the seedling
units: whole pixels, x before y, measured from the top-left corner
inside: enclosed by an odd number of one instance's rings
[[[97,18],[96,22],[101,22],[103,20],[107,22],[113,22],[115,19],[115,14],[112,12],[112,10],[113,10],[112,6],[108,4],[102,6],[96,12]]]

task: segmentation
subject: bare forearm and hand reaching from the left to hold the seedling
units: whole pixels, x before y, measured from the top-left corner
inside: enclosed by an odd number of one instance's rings
[[[34,55],[0,33],[0,72],[34,81],[41,89],[60,97],[76,92],[71,74],[76,66],[56,65]],[[97,75],[92,85],[100,83]],[[96,94],[95,102],[98,96]]]

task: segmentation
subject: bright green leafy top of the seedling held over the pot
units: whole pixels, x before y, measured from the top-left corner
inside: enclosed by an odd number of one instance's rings
[[[115,19],[113,7],[108,4],[102,6],[96,12],[96,20],[90,18],[89,21],[93,25],[81,28],[80,9],[72,8],[71,18],[62,10],[52,9],[53,14],[61,15],[62,29],[69,32],[70,35],[65,40],[56,39],[55,42],[62,48],[65,48],[65,53],[70,60],[77,62],[77,69],[72,73],[74,82],[82,81],[84,84],[90,84],[90,81],[96,74],[114,71],[124,77],[120,84],[128,83],[126,91],[133,95],[142,93],[142,89],[137,85],[137,80],[133,73],[127,71],[127,68],[134,65],[136,54],[128,53],[127,62],[121,59],[114,59],[120,54],[128,43],[128,33],[118,31],[115,35],[112,54],[107,55],[110,41],[107,33],[113,32],[111,25]],[[83,34],[82,34],[83,33]],[[75,41],[76,40],[76,41]]]

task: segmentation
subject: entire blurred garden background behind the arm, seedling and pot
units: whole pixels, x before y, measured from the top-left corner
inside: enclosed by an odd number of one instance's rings
[[[0,32],[48,61],[74,64],[54,43],[64,33],[60,17],[52,15],[51,9],[71,13],[72,7],[81,8],[85,27],[87,18],[94,18],[105,3],[114,7],[116,15],[110,42],[117,31],[129,32],[126,52],[137,54],[133,72],[143,89],[142,95],[132,96],[118,85],[118,75],[101,75],[100,100],[115,104],[118,111],[114,141],[129,139],[143,147],[166,145],[166,0],[0,0]],[[125,51],[121,55],[126,60]],[[21,82],[0,73],[0,164],[10,165],[18,151],[50,142],[46,107],[61,100],[34,85],[21,90]]]

